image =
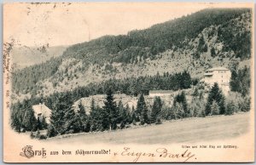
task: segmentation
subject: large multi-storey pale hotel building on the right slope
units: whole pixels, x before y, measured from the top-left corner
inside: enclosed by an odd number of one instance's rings
[[[219,88],[227,95],[230,93],[230,78],[231,71],[229,69],[225,67],[214,67],[205,72],[201,82],[207,83],[210,87],[214,83],[218,83]]]

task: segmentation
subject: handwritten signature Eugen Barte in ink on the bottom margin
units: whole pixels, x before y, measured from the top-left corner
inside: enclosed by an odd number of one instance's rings
[[[195,154],[191,151],[186,150],[180,153],[169,152],[166,148],[158,148],[154,152],[137,152],[131,151],[131,148],[124,147],[124,151],[121,152],[121,156],[134,156],[133,162],[138,162],[143,156],[148,157],[161,157],[161,158],[170,158],[170,159],[182,159],[183,162],[188,162],[192,157],[195,158]],[[196,159],[196,158],[195,158]]]

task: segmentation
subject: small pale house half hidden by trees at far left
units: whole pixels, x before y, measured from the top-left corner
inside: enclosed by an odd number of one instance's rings
[[[45,118],[45,122],[49,123],[49,117],[51,114],[51,110],[43,104],[39,103],[39,105],[32,105],[32,110],[35,112],[35,117],[39,118],[40,121]]]

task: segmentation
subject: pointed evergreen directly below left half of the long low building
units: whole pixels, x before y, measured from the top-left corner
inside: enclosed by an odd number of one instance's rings
[[[161,109],[162,109],[162,102],[160,100],[160,97],[156,96],[154,97],[154,103],[151,111],[151,117],[150,117],[151,123],[156,122],[156,119],[160,118]]]

